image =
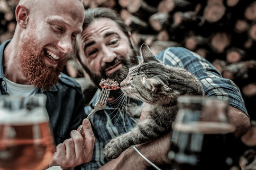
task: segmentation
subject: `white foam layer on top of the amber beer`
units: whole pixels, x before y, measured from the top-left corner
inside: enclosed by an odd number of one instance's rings
[[[0,124],[27,125],[47,121],[49,117],[45,107],[12,111],[0,109]]]

